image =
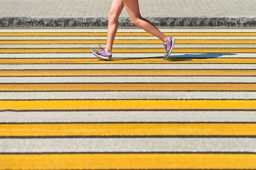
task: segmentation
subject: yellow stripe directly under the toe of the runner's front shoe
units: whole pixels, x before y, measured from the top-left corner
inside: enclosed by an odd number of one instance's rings
[[[0,59],[0,64],[255,64],[254,58],[114,58],[111,61],[102,61],[99,58],[36,58],[36,59]],[[102,71],[103,73],[103,71]]]

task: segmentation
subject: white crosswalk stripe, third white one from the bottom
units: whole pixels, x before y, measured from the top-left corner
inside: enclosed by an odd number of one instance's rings
[[[95,85],[97,86],[97,85]],[[45,99],[256,99],[256,92],[205,91],[101,91],[101,92],[0,92],[0,100]]]

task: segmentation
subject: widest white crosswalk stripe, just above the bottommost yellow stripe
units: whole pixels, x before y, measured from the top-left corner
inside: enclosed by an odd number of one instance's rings
[[[256,152],[255,138],[1,139],[0,153]]]

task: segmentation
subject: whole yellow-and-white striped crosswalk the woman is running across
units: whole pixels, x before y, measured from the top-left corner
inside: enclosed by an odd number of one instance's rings
[[[0,30],[0,170],[256,169],[254,29]]]

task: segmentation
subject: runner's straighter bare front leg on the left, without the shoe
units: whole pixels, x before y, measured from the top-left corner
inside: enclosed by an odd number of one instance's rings
[[[112,0],[110,12],[108,13],[108,40],[105,50],[112,52],[112,46],[118,28],[118,18],[124,8],[123,0]]]

